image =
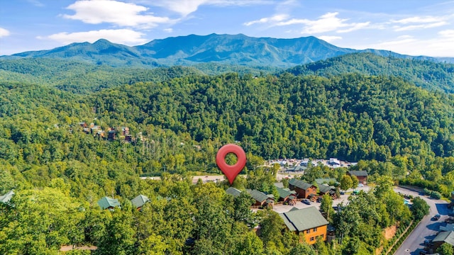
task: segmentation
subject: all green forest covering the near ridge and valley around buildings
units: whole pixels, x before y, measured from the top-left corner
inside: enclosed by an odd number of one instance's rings
[[[454,98],[401,79],[189,75],[84,95],[0,86],[0,194],[16,191],[14,206],[0,208],[2,254],[56,254],[62,244],[96,245],[98,254],[367,254],[381,228],[411,218],[392,180],[444,196],[454,188]],[[79,122],[127,126],[134,141],[86,134]],[[250,214],[250,198],[226,195],[226,183],[190,184],[195,171],[218,173],[217,149],[235,140],[251,159],[248,178],[233,183],[241,190],[275,193],[277,169],[260,165],[277,157],[362,159],[353,169],[377,188],[334,215],[325,208],[343,236],[338,248],[298,244],[279,215]],[[314,166],[304,179],[341,181],[345,171]],[[151,202],[138,212],[129,200],[140,193]],[[122,209],[100,210],[103,196]]]

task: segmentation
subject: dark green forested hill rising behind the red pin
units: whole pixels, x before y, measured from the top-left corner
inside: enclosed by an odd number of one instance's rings
[[[101,118],[187,132],[196,142],[238,140],[265,159],[454,153],[452,96],[400,79],[226,74],[123,86],[93,100]]]

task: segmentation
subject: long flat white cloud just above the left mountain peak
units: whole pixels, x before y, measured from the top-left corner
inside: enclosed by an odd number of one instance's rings
[[[49,36],[38,36],[38,39],[50,39],[69,44],[72,42],[95,42],[101,38],[124,45],[138,45],[147,42],[143,33],[130,29],[102,29],[77,33],[56,33]]]

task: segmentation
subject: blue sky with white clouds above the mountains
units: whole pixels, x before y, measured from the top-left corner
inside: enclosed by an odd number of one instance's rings
[[[453,0],[1,0],[0,55],[105,38],[314,35],[339,47],[454,57]]]

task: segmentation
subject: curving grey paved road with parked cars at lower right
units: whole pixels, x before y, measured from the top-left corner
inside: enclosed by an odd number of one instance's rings
[[[405,188],[394,188],[394,191],[400,192],[406,195],[419,196],[419,193],[416,191],[410,191]],[[429,214],[423,217],[423,220],[419,223],[417,227],[414,228],[413,232],[405,239],[402,245],[397,249],[394,254],[398,255],[418,255],[419,251],[424,249],[423,242],[424,239],[433,239],[436,237],[440,226],[443,224],[444,220],[448,217],[448,203],[445,200],[435,200],[427,198],[426,196],[419,196],[426,200],[427,204],[431,207]],[[432,221],[431,218],[436,214],[441,215],[440,220]]]

